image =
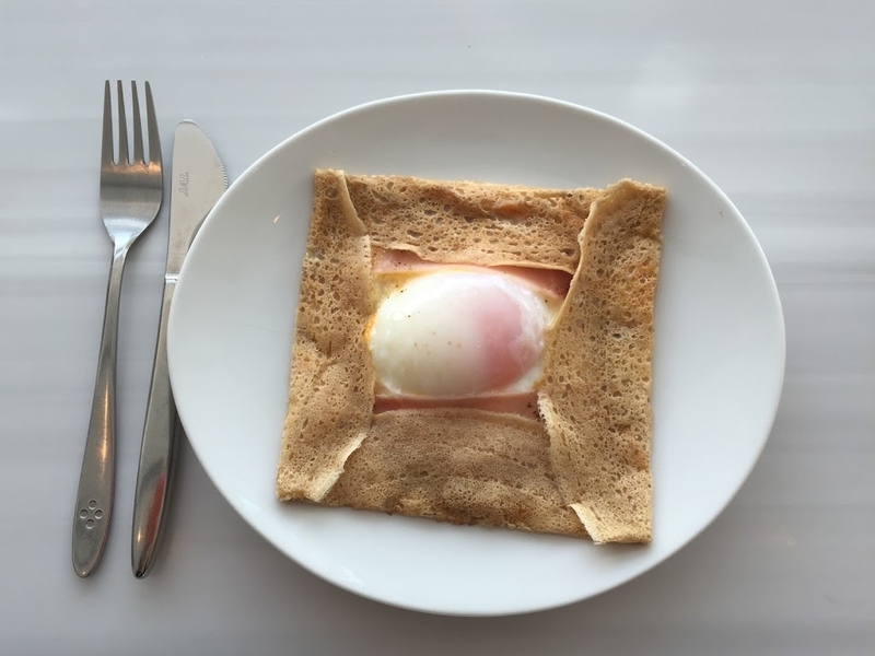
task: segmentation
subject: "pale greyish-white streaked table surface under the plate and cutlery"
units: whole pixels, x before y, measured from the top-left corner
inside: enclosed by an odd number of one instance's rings
[[[0,3],[0,653],[875,653],[873,26],[863,0]],[[665,141],[734,200],[783,302],[784,394],[750,479],[626,586],[459,619],[306,573],[186,445],[163,558],[136,581],[128,508],[165,206],[125,277],[115,522],[98,571],[78,578],[71,512],[110,255],[107,78],[150,80],[165,153],[192,118],[231,179],[322,117],[438,89],[555,96]]]

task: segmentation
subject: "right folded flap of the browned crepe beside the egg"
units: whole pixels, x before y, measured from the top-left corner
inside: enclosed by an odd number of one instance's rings
[[[623,180],[592,207],[551,335],[539,408],[564,499],[596,542],[652,534],[653,303],[665,190]]]

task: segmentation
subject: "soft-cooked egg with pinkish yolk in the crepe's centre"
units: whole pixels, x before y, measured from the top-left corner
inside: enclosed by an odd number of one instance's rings
[[[470,398],[535,388],[561,297],[483,267],[440,266],[383,282],[365,333],[381,391]]]

